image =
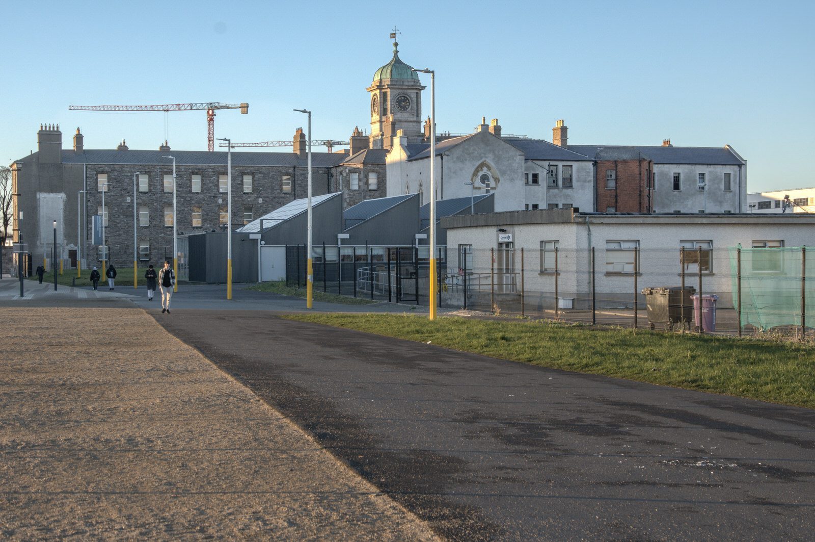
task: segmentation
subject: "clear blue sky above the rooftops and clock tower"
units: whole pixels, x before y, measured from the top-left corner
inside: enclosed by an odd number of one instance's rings
[[[440,131],[498,118],[504,133],[574,144],[731,144],[748,189],[813,186],[815,2],[3,2],[4,163],[41,123],[86,148],[206,149],[204,111],[87,113],[81,104],[249,102],[216,137],[315,139],[369,130],[390,60],[436,70]],[[425,82],[429,84],[429,81]],[[430,92],[423,96],[430,113]]]

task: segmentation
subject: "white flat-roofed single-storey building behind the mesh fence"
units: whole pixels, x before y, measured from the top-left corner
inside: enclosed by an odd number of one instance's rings
[[[566,307],[587,306],[593,287],[598,306],[626,307],[634,291],[645,287],[680,286],[683,277],[685,285],[697,287],[700,264],[703,293],[719,295],[720,306],[733,306],[737,247],[768,251],[746,258],[742,273],[789,275],[800,288],[800,262],[791,264],[789,257],[772,251],[815,242],[815,215],[557,209],[451,216],[442,226],[447,229],[448,269],[457,267],[470,284],[501,292],[521,287],[523,269],[526,303],[544,307],[553,303],[556,278],[557,296]],[[809,273],[815,276],[815,269]]]

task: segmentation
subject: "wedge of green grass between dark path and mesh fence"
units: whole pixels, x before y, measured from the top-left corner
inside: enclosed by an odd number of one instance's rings
[[[558,322],[408,314],[292,314],[283,318],[368,331],[493,358],[676,388],[815,408],[815,348]]]

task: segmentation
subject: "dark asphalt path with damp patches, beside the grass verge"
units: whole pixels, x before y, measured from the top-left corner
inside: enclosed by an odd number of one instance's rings
[[[812,540],[815,411],[150,309],[453,540]]]

